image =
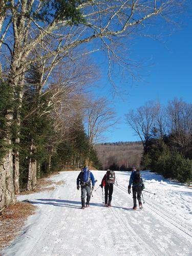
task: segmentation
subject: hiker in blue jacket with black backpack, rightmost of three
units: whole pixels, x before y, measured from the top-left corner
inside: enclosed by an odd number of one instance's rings
[[[136,170],[136,168],[133,167],[132,173],[130,176],[129,186],[128,186],[128,193],[131,194],[131,185],[132,185],[134,210],[137,209],[137,199],[139,202],[139,208],[142,209],[142,203],[141,203],[142,183],[143,183],[143,180],[141,178],[141,173],[139,172],[139,169]]]

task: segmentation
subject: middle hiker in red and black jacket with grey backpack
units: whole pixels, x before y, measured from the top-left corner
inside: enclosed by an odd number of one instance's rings
[[[107,169],[106,174],[102,178],[100,187],[103,188],[104,186],[104,205],[108,207],[111,207],[114,183],[115,183],[115,172],[113,172],[113,170]]]

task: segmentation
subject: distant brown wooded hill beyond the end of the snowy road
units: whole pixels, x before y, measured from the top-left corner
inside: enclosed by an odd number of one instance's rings
[[[133,166],[139,168],[143,153],[140,141],[99,143],[95,149],[103,169],[113,170],[129,170]]]

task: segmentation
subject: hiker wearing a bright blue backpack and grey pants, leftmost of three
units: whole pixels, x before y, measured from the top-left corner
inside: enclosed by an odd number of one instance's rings
[[[84,168],[81,169],[80,174],[77,177],[77,189],[79,190],[81,185],[81,205],[82,205],[82,209],[84,209],[84,207],[89,207],[90,204],[90,199],[91,199],[91,182],[92,182],[92,189],[94,189],[94,185],[95,185],[95,178],[92,174],[92,172],[90,172],[90,170],[88,169],[88,166],[85,165]],[[86,192],[87,192],[87,201],[85,204],[85,197],[86,197]]]

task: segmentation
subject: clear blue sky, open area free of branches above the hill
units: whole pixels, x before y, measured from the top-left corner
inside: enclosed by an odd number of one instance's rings
[[[109,98],[110,106],[121,119],[111,131],[105,132],[104,142],[139,140],[125,123],[124,115],[148,100],[159,100],[166,105],[168,100],[177,97],[191,103],[192,17],[184,15],[183,18],[183,24],[180,28],[176,27],[171,35],[166,35],[167,30],[161,31],[163,37],[160,41],[140,37],[131,42],[131,58],[142,61],[137,71],[141,79],[133,82],[130,79],[127,83],[121,76],[115,78],[116,85],[122,89],[122,95],[112,97],[107,78],[108,62],[100,52],[95,55],[102,77],[97,81],[100,87],[94,91],[99,96]],[[127,94],[124,93],[125,89]]]

